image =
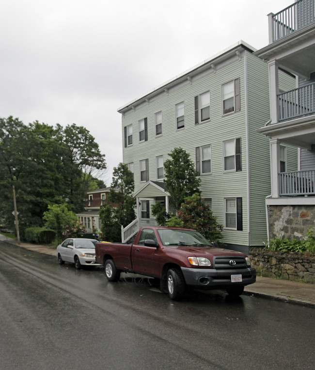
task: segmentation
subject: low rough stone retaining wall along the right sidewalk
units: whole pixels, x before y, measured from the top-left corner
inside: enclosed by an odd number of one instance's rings
[[[273,252],[254,247],[250,248],[250,258],[258,276],[315,283],[315,256],[309,252]]]

